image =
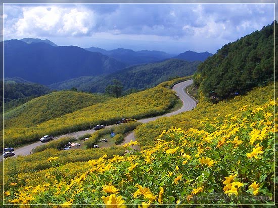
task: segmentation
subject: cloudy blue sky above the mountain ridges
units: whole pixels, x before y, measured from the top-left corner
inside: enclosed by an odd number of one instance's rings
[[[4,4],[4,40],[215,53],[274,20],[274,4]]]

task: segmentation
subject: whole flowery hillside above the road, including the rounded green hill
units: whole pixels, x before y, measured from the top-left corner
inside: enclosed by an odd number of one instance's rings
[[[116,121],[125,117],[139,119],[163,114],[174,107],[178,101],[178,98],[172,90],[157,86],[142,92],[133,93],[118,99],[109,99],[103,103],[97,103],[77,110],[71,101],[71,99],[77,97],[76,94],[73,94],[73,97],[68,99],[67,94],[63,94],[65,92],[57,93],[53,94],[57,95],[53,96],[55,102],[45,102],[44,109],[40,107],[43,104],[39,101],[36,102],[35,108],[35,105],[30,105],[27,110],[24,104],[20,108],[16,108],[5,114],[7,118],[4,135],[5,146],[18,146],[35,142],[45,134],[61,135],[63,133],[88,129],[90,126],[96,124],[115,124]],[[71,92],[67,93],[72,95],[70,94]],[[35,101],[36,99],[33,100],[33,102]],[[76,99],[75,101],[76,105],[81,103],[80,99]],[[99,101],[98,97],[97,101]],[[67,113],[67,109],[70,106],[75,111]],[[47,109],[53,112],[53,117],[48,115],[50,112],[48,113],[46,111]],[[41,118],[44,118],[44,121]]]

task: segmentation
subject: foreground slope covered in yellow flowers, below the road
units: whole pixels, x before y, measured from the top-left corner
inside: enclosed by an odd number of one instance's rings
[[[115,153],[119,155],[113,157],[113,149],[103,157],[101,150],[66,154],[67,151],[50,149],[5,160],[6,168],[17,168],[4,171],[4,201],[107,204],[110,199],[118,205],[271,203],[272,93],[273,84],[217,104],[201,99],[192,111],[142,124],[136,130],[141,152],[129,148],[136,144],[132,142],[124,146],[130,151],[124,156],[117,149]],[[80,158],[79,153],[85,158]],[[54,168],[54,164],[58,167]]]

